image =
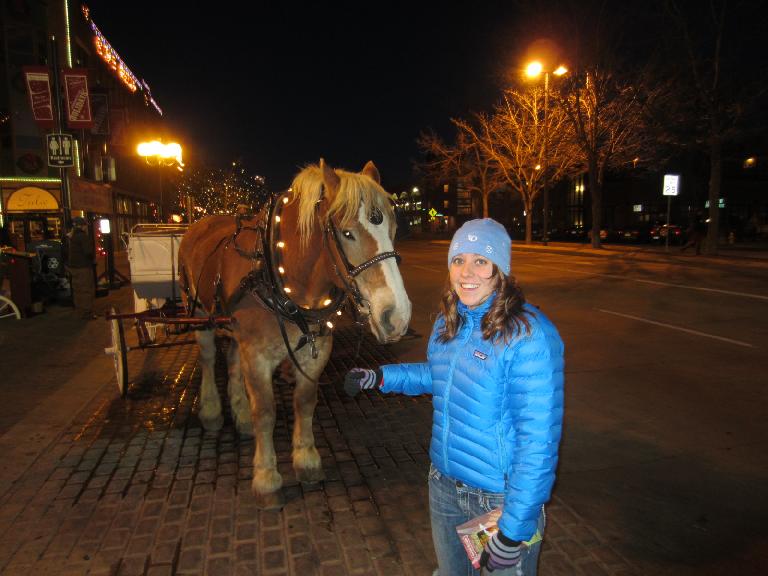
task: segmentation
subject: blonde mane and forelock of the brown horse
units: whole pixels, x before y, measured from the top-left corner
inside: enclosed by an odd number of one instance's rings
[[[389,195],[375,180],[357,172],[347,172],[340,168],[334,169],[339,177],[340,185],[332,198],[326,196],[330,202],[328,216],[340,214],[340,226],[346,226],[357,217],[360,203],[364,202],[370,208],[376,207],[382,214],[394,218],[392,203]],[[305,245],[309,241],[315,225],[317,214],[317,202],[323,194],[323,171],[317,164],[311,164],[299,172],[291,184],[291,202],[299,202],[298,228],[301,243]]]

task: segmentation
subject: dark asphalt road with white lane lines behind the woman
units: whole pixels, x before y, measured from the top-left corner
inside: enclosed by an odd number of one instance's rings
[[[411,294],[446,246],[407,260]],[[645,573],[763,573],[768,261],[532,246],[513,271],[566,343],[556,494]]]

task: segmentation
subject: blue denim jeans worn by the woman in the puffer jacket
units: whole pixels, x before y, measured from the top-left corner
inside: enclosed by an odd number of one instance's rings
[[[437,555],[439,576],[479,576],[464,551],[456,526],[490,512],[504,503],[504,494],[472,488],[429,467],[429,512],[432,517],[432,541]],[[539,516],[539,532],[544,534],[544,508]],[[525,548],[520,564],[507,570],[484,574],[492,576],[536,576],[541,541]]]

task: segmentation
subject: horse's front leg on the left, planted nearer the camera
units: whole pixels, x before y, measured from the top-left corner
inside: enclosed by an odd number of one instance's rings
[[[277,457],[272,433],[275,428],[275,396],[272,372],[275,366],[257,350],[240,343],[240,361],[251,406],[253,423],[253,481],[251,490],[256,507],[262,510],[280,509],[285,504],[280,488],[283,478],[277,471]]]

